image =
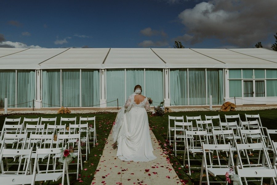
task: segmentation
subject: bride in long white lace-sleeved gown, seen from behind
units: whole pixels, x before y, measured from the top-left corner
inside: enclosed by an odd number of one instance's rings
[[[118,146],[116,156],[121,161],[147,162],[156,159],[152,152],[146,112],[150,110],[150,104],[141,91],[140,85],[134,87],[134,93],[128,97],[115,119],[113,138]]]

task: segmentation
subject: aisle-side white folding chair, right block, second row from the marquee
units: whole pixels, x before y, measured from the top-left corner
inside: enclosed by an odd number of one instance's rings
[[[181,134],[177,134],[176,131],[179,131]],[[177,142],[183,142],[184,145],[179,145],[179,146],[185,146],[185,130],[192,130],[192,122],[177,122],[176,120],[174,121],[174,150],[175,150],[175,156],[177,156]],[[181,140],[177,140],[181,139]],[[183,141],[182,141],[183,139]],[[184,150],[178,150],[178,151],[184,151]]]

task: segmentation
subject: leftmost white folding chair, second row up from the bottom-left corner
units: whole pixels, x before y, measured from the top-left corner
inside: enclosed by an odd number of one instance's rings
[[[9,176],[9,175],[28,175],[32,174],[32,167],[30,166],[30,155],[32,154],[33,148],[31,147],[30,149],[6,149],[3,148],[1,153],[0,153],[0,163],[1,163],[1,174],[0,176]],[[29,155],[28,158],[26,158],[26,164],[22,162],[23,156],[24,155]],[[16,170],[10,170],[8,167],[8,158],[14,159],[14,157],[19,157],[18,163],[9,163],[13,165],[13,169]],[[4,168],[4,158],[6,160],[6,169]],[[18,165],[16,167],[16,165]],[[25,168],[26,165],[26,168]],[[23,166],[23,168],[22,168]]]

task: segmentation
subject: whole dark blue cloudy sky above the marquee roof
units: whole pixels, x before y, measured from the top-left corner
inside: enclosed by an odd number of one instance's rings
[[[266,3],[265,3],[266,2]],[[276,0],[0,2],[0,47],[270,48]]]

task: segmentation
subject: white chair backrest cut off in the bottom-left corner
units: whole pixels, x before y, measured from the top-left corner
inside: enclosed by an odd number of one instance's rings
[[[21,184],[31,184],[34,185],[34,180],[36,174],[33,175],[9,175],[1,176],[1,185],[21,185]]]

